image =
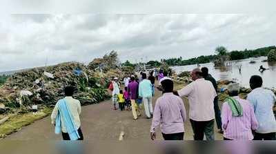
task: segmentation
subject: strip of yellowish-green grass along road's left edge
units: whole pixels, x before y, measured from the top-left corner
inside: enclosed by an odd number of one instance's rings
[[[36,114],[24,113],[12,115],[8,121],[0,125],[0,138],[4,138],[14,132],[19,131],[23,126],[28,126],[38,119],[50,115],[52,109],[44,108]]]

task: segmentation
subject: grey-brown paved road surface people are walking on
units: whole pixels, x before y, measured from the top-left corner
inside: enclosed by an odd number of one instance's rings
[[[153,102],[161,95],[157,91]],[[188,113],[188,102],[185,102]],[[86,140],[90,141],[118,141],[119,135],[124,131],[124,140],[148,140],[151,120],[146,115],[134,121],[131,111],[112,110],[110,100],[82,107],[81,128]],[[193,140],[193,131],[190,122],[185,124],[186,140]],[[217,129],[215,128],[217,132]],[[222,135],[215,134],[216,139],[222,139]],[[41,119],[30,126],[26,126],[17,133],[6,137],[7,140],[58,140],[61,135],[55,135],[54,127],[50,124],[50,117]],[[157,139],[162,139],[160,131],[157,131]]]

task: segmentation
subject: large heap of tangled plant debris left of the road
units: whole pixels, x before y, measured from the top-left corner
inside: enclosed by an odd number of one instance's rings
[[[21,73],[15,73],[8,78],[0,88],[0,104],[3,108],[23,107],[31,109],[32,105],[55,105],[61,99],[64,86],[72,85],[77,88],[75,98],[81,104],[99,103],[109,96],[106,93],[108,76],[99,75],[87,66],[69,62],[33,68]]]

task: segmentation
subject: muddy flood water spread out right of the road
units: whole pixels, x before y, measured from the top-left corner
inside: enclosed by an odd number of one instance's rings
[[[213,63],[200,64],[200,67],[207,67],[209,73],[216,80],[228,79],[236,81],[242,86],[249,88],[249,79],[252,75],[260,75],[263,78],[263,86],[266,88],[276,88],[276,62],[262,62],[266,57],[250,58],[241,61],[231,61],[231,66],[215,68]],[[256,61],[255,64],[250,64],[250,61]],[[242,66],[242,71],[239,73],[239,66]],[[259,72],[259,66],[264,66],[268,70],[263,73]],[[174,66],[172,69],[176,73],[190,71],[197,68],[197,65],[190,66]]]

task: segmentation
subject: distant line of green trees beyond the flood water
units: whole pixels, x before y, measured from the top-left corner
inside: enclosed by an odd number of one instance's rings
[[[250,57],[261,57],[267,56],[268,52],[272,49],[276,49],[276,46],[268,46],[264,48],[257,48],[255,50],[233,50],[228,52],[224,46],[218,46],[215,49],[215,53],[217,55],[201,55],[199,57],[190,58],[190,59],[183,59],[182,57],[179,58],[170,58],[170,59],[161,59],[159,61],[148,61],[147,65],[152,67],[159,67],[161,66],[162,62],[165,62],[169,66],[185,66],[185,65],[193,65],[193,64],[205,64],[215,61],[221,56],[227,56],[230,60],[239,60],[239,59],[247,59]],[[125,66],[135,66],[136,64],[131,64],[130,61],[126,61],[124,63]]]

